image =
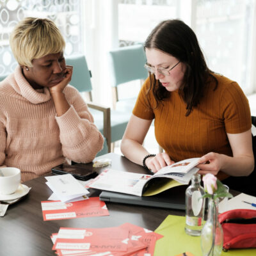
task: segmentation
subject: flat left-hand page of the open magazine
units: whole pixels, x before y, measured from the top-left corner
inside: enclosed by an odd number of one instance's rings
[[[104,170],[88,186],[90,188],[141,196],[145,183],[152,175]]]

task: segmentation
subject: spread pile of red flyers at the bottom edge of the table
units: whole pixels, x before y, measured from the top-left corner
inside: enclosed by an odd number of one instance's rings
[[[52,234],[57,255],[154,255],[160,234],[131,223],[110,228],[60,228]]]

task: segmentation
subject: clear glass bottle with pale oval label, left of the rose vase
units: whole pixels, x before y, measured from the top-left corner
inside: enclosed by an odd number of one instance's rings
[[[205,194],[200,185],[201,176],[195,173],[191,185],[186,189],[186,225],[185,232],[191,236],[200,236],[204,221]]]

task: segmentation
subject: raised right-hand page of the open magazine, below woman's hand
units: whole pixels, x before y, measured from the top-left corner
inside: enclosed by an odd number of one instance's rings
[[[189,158],[182,161],[179,161],[177,163],[174,163],[172,165],[168,165],[163,167],[161,170],[159,170],[157,173],[155,173],[153,176],[159,176],[163,174],[171,174],[171,173],[188,173],[189,170],[191,170],[193,167],[195,167],[198,164],[199,157],[196,158]]]

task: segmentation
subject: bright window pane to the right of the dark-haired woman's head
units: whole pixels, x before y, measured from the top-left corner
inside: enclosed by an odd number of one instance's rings
[[[237,81],[244,92],[253,90],[252,73],[254,0],[197,0],[196,35],[207,65]]]

